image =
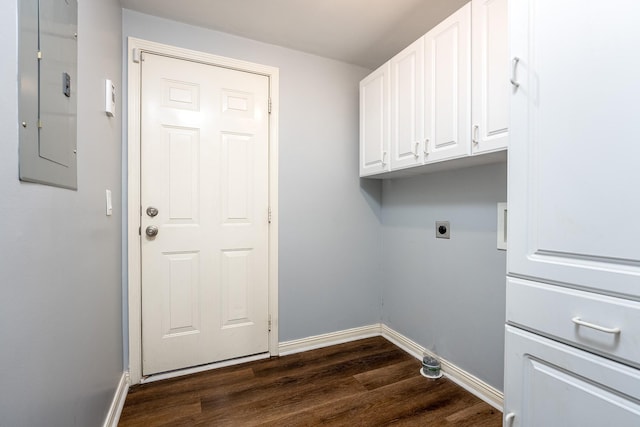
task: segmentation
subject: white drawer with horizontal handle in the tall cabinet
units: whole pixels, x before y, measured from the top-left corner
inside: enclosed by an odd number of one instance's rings
[[[507,322],[640,367],[640,303],[507,278]]]

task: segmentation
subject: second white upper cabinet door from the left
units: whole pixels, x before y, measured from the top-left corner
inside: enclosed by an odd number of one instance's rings
[[[422,164],[424,40],[391,59],[391,170]]]

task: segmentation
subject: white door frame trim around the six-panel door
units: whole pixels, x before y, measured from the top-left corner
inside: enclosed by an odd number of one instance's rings
[[[142,380],[142,265],[140,248],[140,54],[154,53],[202,64],[260,74],[269,79],[269,354],[278,355],[278,92],[279,69],[237,59],[183,49],[134,37],[127,48],[127,277],[129,378],[131,384]],[[267,212],[265,212],[267,216]]]

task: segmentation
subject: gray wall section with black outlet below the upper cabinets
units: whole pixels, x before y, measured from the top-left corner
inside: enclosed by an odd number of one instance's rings
[[[386,180],[382,321],[502,390],[506,253],[496,203],[506,164]],[[451,239],[435,238],[435,221]]]

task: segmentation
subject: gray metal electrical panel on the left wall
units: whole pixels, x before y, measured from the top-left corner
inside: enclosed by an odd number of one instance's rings
[[[77,0],[18,0],[20,179],[77,189]]]

